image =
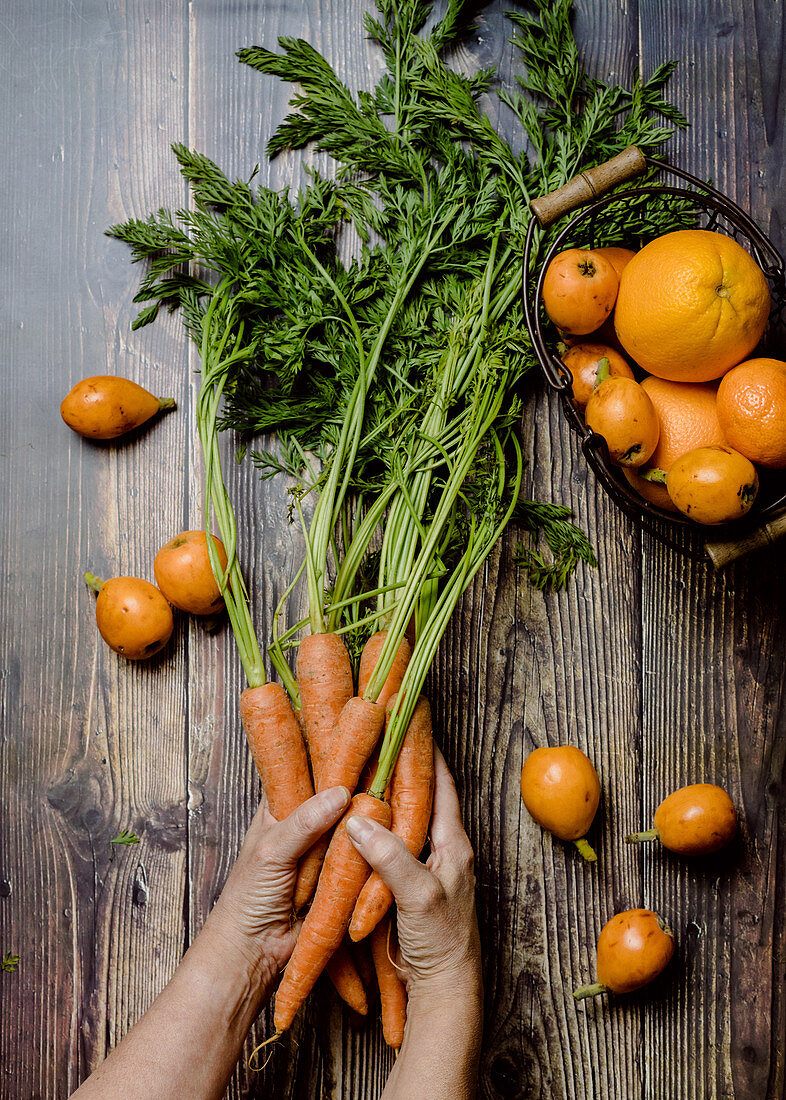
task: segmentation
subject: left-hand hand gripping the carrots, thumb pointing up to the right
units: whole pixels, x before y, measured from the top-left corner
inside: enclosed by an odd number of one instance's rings
[[[345,787],[321,791],[277,822],[264,794],[204,932],[229,941],[272,983],[289,959],[301,922],[292,920],[298,859],[346,809]]]

